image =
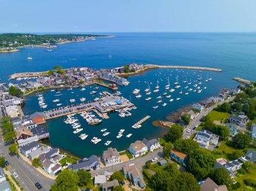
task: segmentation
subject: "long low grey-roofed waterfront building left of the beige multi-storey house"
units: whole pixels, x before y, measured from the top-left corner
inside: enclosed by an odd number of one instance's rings
[[[92,155],[89,158],[84,158],[76,163],[69,165],[69,169],[73,169],[73,171],[78,171],[79,169],[84,169],[86,171],[91,171],[92,169],[100,168],[100,162],[96,155]]]

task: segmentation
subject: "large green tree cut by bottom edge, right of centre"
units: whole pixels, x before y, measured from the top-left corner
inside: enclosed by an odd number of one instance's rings
[[[188,172],[181,173],[170,185],[170,191],[198,191],[199,189],[200,186],[197,184],[197,180]]]

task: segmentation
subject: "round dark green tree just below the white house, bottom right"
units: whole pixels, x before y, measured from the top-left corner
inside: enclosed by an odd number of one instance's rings
[[[232,184],[232,180],[228,174],[228,171],[224,168],[216,168],[210,174],[210,178],[214,180],[214,182],[218,185],[226,185],[230,186]]]

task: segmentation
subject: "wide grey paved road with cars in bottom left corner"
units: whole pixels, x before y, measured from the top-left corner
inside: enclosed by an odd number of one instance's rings
[[[24,190],[34,191],[37,188],[34,186],[36,182],[42,185],[41,190],[50,190],[51,185],[54,184],[54,180],[42,176],[33,166],[26,163],[26,161],[18,158],[16,156],[11,157],[8,150],[9,145],[5,146],[0,136],[0,153],[1,156],[5,157],[6,161],[9,161],[10,169],[9,171],[13,174],[15,171],[18,174],[17,181]]]

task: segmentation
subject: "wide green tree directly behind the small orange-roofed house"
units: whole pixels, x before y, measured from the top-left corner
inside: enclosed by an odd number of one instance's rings
[[[188,155],[190,152],[199,149],[199,145],[192,139],[178,139],[174,142],[174,148]]]

